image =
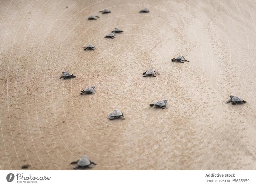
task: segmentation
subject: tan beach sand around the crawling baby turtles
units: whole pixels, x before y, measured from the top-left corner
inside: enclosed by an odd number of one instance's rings
[[[92,170],[255,170],[255,9],[2,0],[0,169],[72,170],[86,154]],[[115,27],[124,33],[104,38]],[[178,55],[190,62],[171,62]],[[160,75],[142,77],[148,69]],[[62,71],[76,78],[59,79]],[[90,86],[96,93],[80,96]],[[225,104],[229,95],[247,103]],[[149,106],[163,99],[168,109]],[[108,120],[114,109],[125,120]]]

